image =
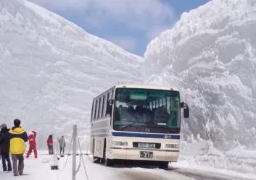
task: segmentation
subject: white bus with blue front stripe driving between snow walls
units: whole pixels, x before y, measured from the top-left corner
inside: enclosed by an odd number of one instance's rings
[[[115,85],[94,98],[91,153],[95,163],[150,163],[168,169],[178,160],[181,130],[189,107],[178,90],[155,85]]]

